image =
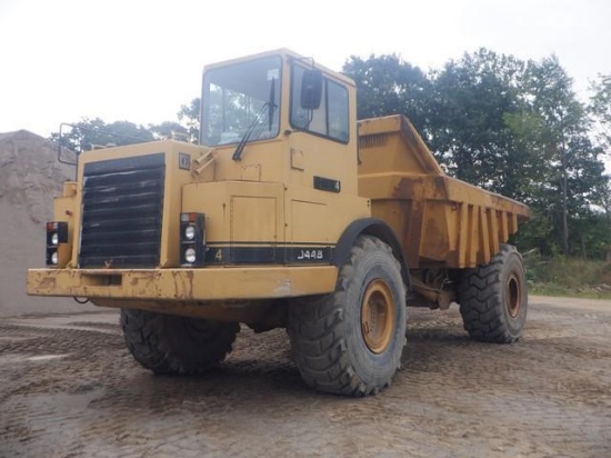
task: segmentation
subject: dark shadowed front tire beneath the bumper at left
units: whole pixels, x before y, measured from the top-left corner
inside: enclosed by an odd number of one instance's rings
[[[156,374],[201,374],[224,359],[239,331],[238,323],[121,309],[128,349]]]

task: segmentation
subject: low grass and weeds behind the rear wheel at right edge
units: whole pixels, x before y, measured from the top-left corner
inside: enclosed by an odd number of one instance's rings
[[[568,296],[611,299],[611,262],[541,257],[537,251],[524,255],[529,292],[544,296]]]

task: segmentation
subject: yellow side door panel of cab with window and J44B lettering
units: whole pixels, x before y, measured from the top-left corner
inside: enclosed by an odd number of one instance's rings
[[[289,74],[287,240],[298,248],[293,261],[328,262],[345,227],[367,213],[357,198],[354,89],[297,61]]]

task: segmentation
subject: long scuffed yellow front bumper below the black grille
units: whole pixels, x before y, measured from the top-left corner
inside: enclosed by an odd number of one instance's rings
[[[334,266],[203,269],[30,269],[28,295],[211,301],[331,292]]]

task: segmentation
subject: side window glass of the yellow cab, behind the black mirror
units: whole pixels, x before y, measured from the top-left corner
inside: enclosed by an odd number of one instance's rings
[[[331,140],[348,142],[348,90],[328,79],[322,81],[322,99],[315,110],[301,108],[301,83],[304,68],[293,64],[291,78],[291,126]]]

